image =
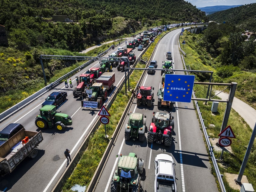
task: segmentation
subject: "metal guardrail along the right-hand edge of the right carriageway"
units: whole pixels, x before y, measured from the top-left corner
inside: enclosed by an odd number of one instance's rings
[[[179,43],[179,47],[180,47],[180,43]],[[181,57],[182,57],[184,68],[187,70],[186,63],[184,61],[183,55],[181,55]],[[188,72],[187,72],[187,75],[188,75]],[[194,91],[192,92],[192,94],[193,94],[193,97],[196,98]],[[197,108],[197,114],[198,114],[202,129],[203,129],[203,135],[204,135],[205,140],[206,140],[207,148],[209,150],[210,157],[211,157],[212,162],[213,162],[213,167],[214,167],[216,177],[217,177],[218,182],[219,182],[219,187],[220,187],[222,192],[226,192],[224,183],[222,181],[222,174],[220,174],[219,167],[218,167],[216,158],[215,158],[214,153],[213,153],[213,146],[211,145],[209,136],[208,136],[207,131],[206,131],[206,127],[205,127],[204,122],[203,122],[203,117],[202,117],[201,112],[200,112],[200,107],[198,106],[198,101],[195,100],[194,103],[195,103],[196,108]]]

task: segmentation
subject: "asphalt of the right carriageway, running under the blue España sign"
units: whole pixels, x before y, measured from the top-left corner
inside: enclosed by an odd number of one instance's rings
[[[165,53],[171,51],[173,53],[174,69],[183,69],[181,56],[178,49],[178,37],[181,29],[174,30],[163,37],[152,60],[157,60],[158,68],[161,68],[162,61],[166,60]],[[183,74],[176,72],[175,74]],[[141,190],[152,192],[154,191],[155,168],[154,160],[157,154],[166,153],[173,156],[176,163],[176,182],[177,191],[218,191],[216,182],[210,171],[209,157],[206,152],[205,143],[203,141],[200,125],[197,120],[196,111],[193,103],[175,103],[175,108],[158,108],[157,107],[157,91],[162,88],[161,72],[156,71],[155,75],[146,74],[143,78],[141,86],[154,87],[154,100],[152,107],[136,106],[136,99],[130,107],[132,113],[141,113],[146,115],[146,126],[149,127],[153,117],[153,111],[161,111],[170,113],[174,116],[174,133],[172,144],[166,147],[163,144],[147,143],[147,133],[145,133],[144,142],[138,140],[125,141],[124,128],[128,122],[129,115],[123,122],[123,126],[114,143],[109,159],[104,167],[104,171],[99,178],[98,184],[95,187],[96,192],[110,191],[111,181],[114,171],[117,169],[118,158],[117,154],[128,155],[130,152],[135,152],[137,157],[144,159],[144,171],[141,175]],[[146,129],[146,132],[148,129]]]

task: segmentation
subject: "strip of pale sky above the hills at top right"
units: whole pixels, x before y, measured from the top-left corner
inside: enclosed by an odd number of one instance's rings
[[[185,0],[199,7],[210,7],[216,5],[245,5],[255,3],[256,0]]]

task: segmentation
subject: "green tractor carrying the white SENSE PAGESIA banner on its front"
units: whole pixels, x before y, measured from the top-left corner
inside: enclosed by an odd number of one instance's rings
[[[98,102],[98,109],[101,108],[103,100],[107,99],[107,88],[103,87],[102,83],[94,83],[90,87],[85,87],[85,92],[83,94],[84,100],[82,101],[82,107],[84,106],[84,101],[96,101]]]

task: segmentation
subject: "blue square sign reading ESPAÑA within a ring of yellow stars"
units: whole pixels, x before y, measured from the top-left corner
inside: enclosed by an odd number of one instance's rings
[[[193,86],[194,75],[165,75],[164,101],[177,101],[190,103]]]

